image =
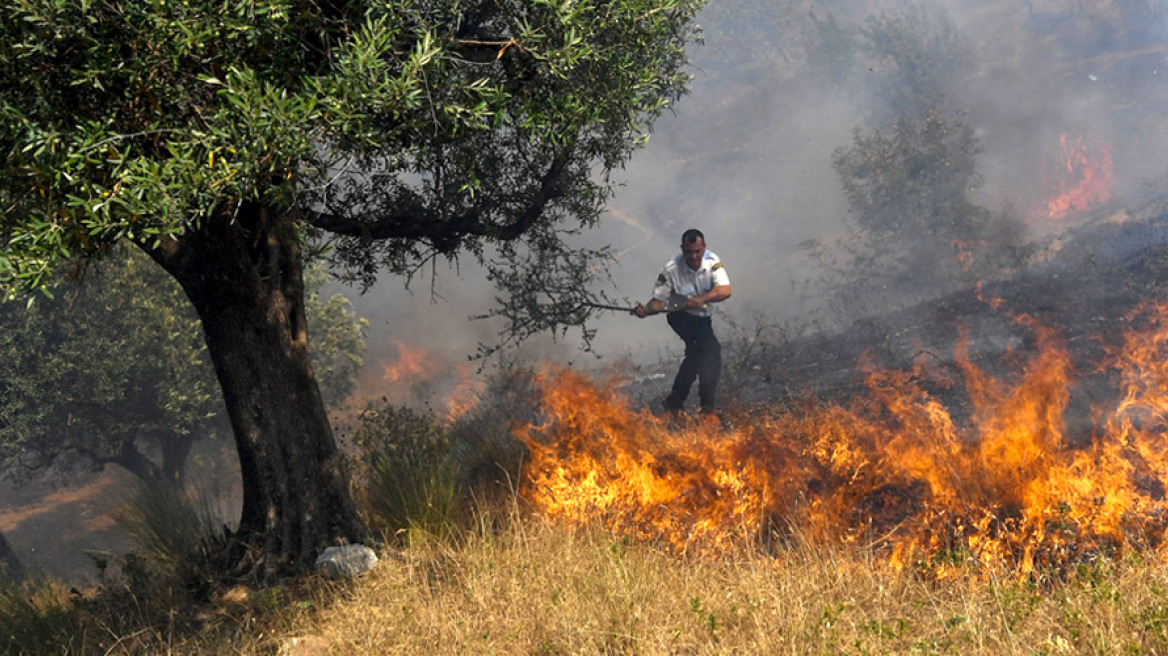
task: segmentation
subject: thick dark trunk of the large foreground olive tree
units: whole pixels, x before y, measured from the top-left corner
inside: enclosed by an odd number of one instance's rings
[[[150,252],[199,312],[235,433],[243,512],[229,565],[267,580],[366,528],[312,372],[294,224],[232,210]]]

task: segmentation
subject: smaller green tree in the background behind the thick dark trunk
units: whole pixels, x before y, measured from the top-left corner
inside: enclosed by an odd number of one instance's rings
[[[355,386],[368,322],[311,270],[306,312],[321,392]],[[127,251],[28,308],[0,306],[0,470],[117,465],[182,482],[196,440],[225,432],[223,399],[194,308],[165,271]]]

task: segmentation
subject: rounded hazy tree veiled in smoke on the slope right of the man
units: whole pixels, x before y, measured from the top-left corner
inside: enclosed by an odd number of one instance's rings
[[[952,289],[1020,261],[1021,224],[969,202],[979,184],[973,131],[936,107],[892,130],[853,132],[833,154],[849,230],[805,244],[827,265],[829,287],[870,312]]]

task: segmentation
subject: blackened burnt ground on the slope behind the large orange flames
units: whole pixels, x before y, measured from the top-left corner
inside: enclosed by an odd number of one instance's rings
[[[1036,351],[1035,329],[1015,320],[1026,315],[1061,335],[1070,353],[1076,383],[1068,433],[1087,438],[1090,409],[1114,396],[1112,374],[1100,369],[1106,347],[1119,342],[1134,308],[1168,291],[1168,211],[1157,205],[1142,215],[1085,223],[1036,244],[1027,270],[1009,279],[865,316],[839,332],[767,343],[723,336],[721,405],[807,397],[847,403],[864,392],[863,358],[889,369],[908,369],[925,358],[955,374],[962,332],[971,361],[1009,381]],[[631,385],[633,402],[659,410],[674,370],[675,363],[665,364],[655,377]],[[967,399],[959,386],[930,391],[955,416],[964,413]]]

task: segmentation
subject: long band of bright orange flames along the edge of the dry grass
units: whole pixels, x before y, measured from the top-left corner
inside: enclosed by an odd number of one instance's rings
[[[1168,305],[1111,354],[1120,388],[1092,427],[1068,435],[1075,372],[1059,336],[1009,381],[973,364],[862,363],[868,395],[848,406],[762,409],[735,427],[670,430],[604,385],[548,374],[545,420],[524,495],[549,516],[717,552],[742,538],[799,535],[869,546],[896,568],[1045,574],[1099,553],[1159,547],[1168,529]],[[953,398],[967,399],[954,404]],[[966,411],[951,406],[960,405]]]

